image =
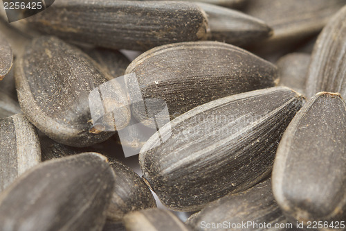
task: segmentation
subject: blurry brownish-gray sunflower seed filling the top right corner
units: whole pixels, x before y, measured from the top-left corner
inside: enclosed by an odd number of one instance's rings
[[[275,51],[318,33],[345,3],[345,0],[248,0],[244,11],[273,28],[273,36],[258,46]]]

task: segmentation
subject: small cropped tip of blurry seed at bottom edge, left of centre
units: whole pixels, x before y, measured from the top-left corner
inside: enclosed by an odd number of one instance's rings
[[[127,231],[191,230],[172,212],[163,209],[145,209],[131,212],[125,216],[124,224]]]

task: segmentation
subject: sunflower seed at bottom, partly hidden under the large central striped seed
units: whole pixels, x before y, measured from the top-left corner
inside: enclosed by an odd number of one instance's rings
[[[280,207],[274,200],[271,192],[271,180],[261,182],[251,189],[239,194],[230,194],[219,198],[197,214],[193,214],[188,219],[187,224],[194,230],[216,230],[216,226],[205,224],[217,224],[227,221],[228,224],[242,224],[251,221],[257,224],[283,225],[287,223]],[[217,230],[266,230],[266,228],[256,228],[248,225],[245,228],[232,227],[219,228]]]

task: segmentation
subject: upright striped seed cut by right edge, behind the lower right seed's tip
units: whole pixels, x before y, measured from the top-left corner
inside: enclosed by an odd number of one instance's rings
[[[339,92],[346,99],[346,6],[323,28],[313,48],[307,74],[306,92]]]

